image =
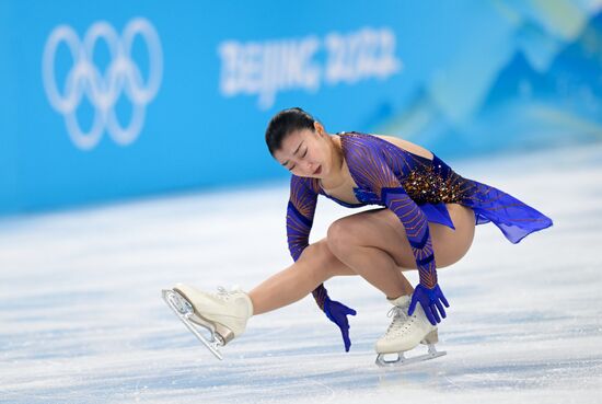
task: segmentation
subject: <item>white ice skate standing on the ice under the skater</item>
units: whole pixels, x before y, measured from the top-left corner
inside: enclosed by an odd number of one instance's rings
[[[389,301],[393,304],[389,312],[389,315],[393,314],[393,322],[384,336],[377,342],[378,366],[404,366],[447,354],[445,351],[437,351],[435,348],[435,344],[439,340],[437,327],[428,321],[420,303],[416,304],[413,315],[407,315],[410,302],[409,296],[402,296]],[[428,354],[412,358],[404,356],[404,353],[414,349],[419,344],[428,345]],[[394,358],[387,360],[385,357],[391,355]]]

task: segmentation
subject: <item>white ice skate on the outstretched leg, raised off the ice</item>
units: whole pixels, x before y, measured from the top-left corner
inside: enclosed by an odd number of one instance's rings
[[[240,289],[218,288],[217,293],[209,293],[177,284],[173,289],[164,289],[162,296],[184,325],[218,359],[223,359],[219,348],[241,335],[253,315],[253,303]],[[198,326],[208,330],[211,338],[206,338]]]

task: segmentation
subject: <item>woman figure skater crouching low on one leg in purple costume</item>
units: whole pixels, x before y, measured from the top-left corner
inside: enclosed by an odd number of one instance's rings
[[[271,155],[292,173],[287,234],[294,264],[250,293],[207,293],[190,286],[173,290],[194,309],[190,320],[224,345],[242,334],[252,315],[313,296],[343,334],[349,350],[347,315],[356,312],[328,298],[323,282],[359,275],[393,305],[393,322],[377,342],[379,358],[420,342],[437,342],[437,323],[449,307],[437,268],[468,251],[475,224],[494,222],[512,242],[552,226],[552,220],[512,196],[463,178],[430,151],[389,136],[329,135],[301,108],[278,113],[266,130]],[[327,236],[309,244],[316,199],[346,207],[380,205],[331,224]],[[413,288],[404,270],[418,269]]]

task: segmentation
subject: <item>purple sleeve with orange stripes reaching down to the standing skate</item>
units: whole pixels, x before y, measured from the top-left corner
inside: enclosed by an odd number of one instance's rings
[[[391,209],[405,228],[416,261],[420,284],[429,289],[437,285],[437,266],[426,215],[407,195],[389,166],[378,145],[348,140],[346,159],[354,180],[371,189]]]

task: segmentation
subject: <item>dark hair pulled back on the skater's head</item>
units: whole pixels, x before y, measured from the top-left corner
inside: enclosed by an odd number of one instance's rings
[[[271,155],[282,146],[282,140],[301,129],[314,130],[313,116],[299,107],[282,109],[269,120],[266,129],[266,143]]]

